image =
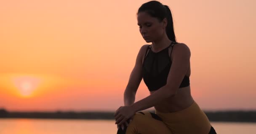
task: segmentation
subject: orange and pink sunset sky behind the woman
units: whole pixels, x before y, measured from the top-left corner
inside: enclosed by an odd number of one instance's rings
[[[1,0],[0,108],[115,111],[140,47],[148,0]],[[256,1],[160,0],[191,51],[203,110],[256,110]],[[149,95],[144,82],[136,101]],[[152,109],[152,108],[150,108]]]

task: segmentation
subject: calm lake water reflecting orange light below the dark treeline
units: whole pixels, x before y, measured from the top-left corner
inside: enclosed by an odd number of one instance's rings
[[[256,123],[211,122],[217,134],[256,134]],[[0,134],[116,134],[114,120],[0,119]]]

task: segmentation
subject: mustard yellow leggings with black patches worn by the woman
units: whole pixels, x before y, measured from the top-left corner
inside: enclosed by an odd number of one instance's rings
[[[194,103],[188,108],[163,113],[140,111],[117,134],[216,134],[205,113]]]

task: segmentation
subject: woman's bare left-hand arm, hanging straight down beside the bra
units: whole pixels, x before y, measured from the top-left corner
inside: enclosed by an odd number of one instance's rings
[[[135,95],[142,80],[142,58],[146,53],[148,45],[141,46],[139,53],[136,57],[135,66],[129,77],[128,84],[124,92],[124,105],[131,106],[135,101]]]

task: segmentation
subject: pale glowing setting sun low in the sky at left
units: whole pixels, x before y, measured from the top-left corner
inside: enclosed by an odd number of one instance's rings
[[[16,77],[13,79],[14,85],[19,90],[20,95],[24,97],[28,97],[32,95],[33,91],[37,88],[39,84],[39,79],[35,77]]]

